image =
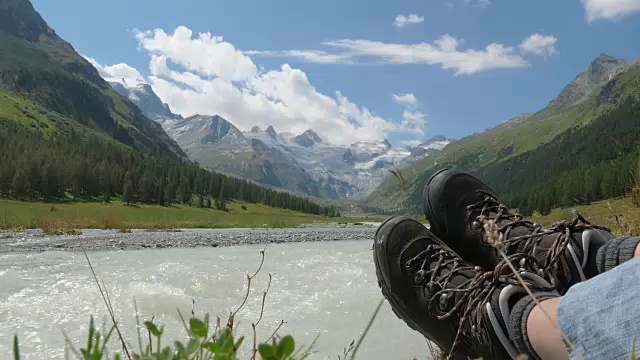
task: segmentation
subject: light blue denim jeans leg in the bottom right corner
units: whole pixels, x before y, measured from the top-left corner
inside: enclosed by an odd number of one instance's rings
[[[640,258],[574,285],[558,303],[557,317],[584,360],[629,359],[634,337],[640,353]],[[569,358],[579,359],[565,345]]]

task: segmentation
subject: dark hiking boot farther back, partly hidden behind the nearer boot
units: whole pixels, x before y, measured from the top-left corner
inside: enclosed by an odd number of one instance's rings
[[[465,260],[492,269],[502,259],[498,249],[507,256],[528,254],[537,259],[539,275],[562,294],[599,273],[598,249],[613,238],[577,212],[573,221],[543,229],[511,213],[480,180],[456,170],[441,170],[429,179],[424,209],[431,231]]]

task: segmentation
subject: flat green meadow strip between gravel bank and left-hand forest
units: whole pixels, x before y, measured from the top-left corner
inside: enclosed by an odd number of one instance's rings
[[[345,218],[309,215],[261,204],[229,202],[228,211],[201,209],[185,205],[126,206],[120,201],[110,204],[76,202],[50,204],[0,200],[0,229],[176,229],[176,228],[284,228],[314,222],[342,222]],[[349,222],[363,219],[349,218]],[[366,219],[376,221],[380,219]],[[60,230],[65,231],[65,230]]]

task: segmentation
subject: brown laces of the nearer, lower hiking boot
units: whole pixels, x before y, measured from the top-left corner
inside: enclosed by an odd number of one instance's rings
[[[538,265],[527,254],[515,254],[507,258],[520,264],[520,271],[538,272]],[[421,287],[423,296],[429,299],[429,311],[438,320],[453,318],[459,324],[449,356],[455,354],[460,342],[473,344],[480,339],[491,346],[491,338],[483,317],[484,305],[491,301],[493,292],[508,284],[521,286],[515,274],[509,268],[507,260],[502,260],[493,271],[471,266],[460,259],[453,251],[439,245],[427,248],[408,260],[406,268],[414,274],[414,285]],[[451,279],[463,275],[466,280],[452,286]],[[528,283],[528,282],[527,282]],[[528,284],[529,288],[539,288]],[[551,289],[551,288],[550,288]],[[545,290],[550,290],[545,289]]]

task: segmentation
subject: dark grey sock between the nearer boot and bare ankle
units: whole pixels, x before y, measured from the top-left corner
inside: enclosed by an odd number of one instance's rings
[[[548,292],[533,293],[538,302],[547,299],[553,299],[558,297],[557,294]],[[525,354],[531,359],[540,360],[538,354],[536,354],[531,342],[529,342],[529,335],[527,335],[527,320],[531,310],[536,306],[531,296],[527,295],[514,305],[509,315],[509,337],[515,345],[520,354]]]

